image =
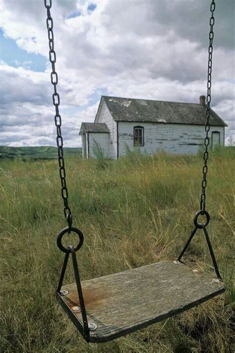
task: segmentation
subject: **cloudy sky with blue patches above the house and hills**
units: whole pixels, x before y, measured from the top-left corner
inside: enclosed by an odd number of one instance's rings
[[[101,95],[199,102],[210,0],[53,0],[65,146]],[[213,109],[235,139],[235,1],[217,0]],[[44,0],[0,0],[0,144],[56,145]]]

